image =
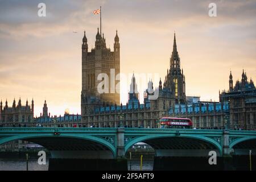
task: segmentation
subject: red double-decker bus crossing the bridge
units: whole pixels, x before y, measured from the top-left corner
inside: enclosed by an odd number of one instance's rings
[[[160,119],[160,127],[170,129],[191,129],[192,121],[189,118],[163,117]]]

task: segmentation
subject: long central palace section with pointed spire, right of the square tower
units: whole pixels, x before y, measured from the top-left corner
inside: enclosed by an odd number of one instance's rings
[[[150,90],[154,92],[149,92]],[[158,98],[150,96],[158,92]],[[97,98],[89,98],[90,112],[82,115],[82,126],[90,127],[158,127],[162,117],[187,117],[198,128],[221,128],[229,123],[228,102],[187,101],[185,94],[185,76],[180,69],[180,57],[177,52],[176,36],[170,58],[170,69],[162,85],[154,89],[152,81],[144,92],[144,102],[140,104],[135,77],[131,78],[130,90],[126,105],[102,105]]]

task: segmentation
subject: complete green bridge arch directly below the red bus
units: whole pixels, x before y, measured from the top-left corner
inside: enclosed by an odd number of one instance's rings
[[[133,144],[138,143],[138,142],[144,142],[147,143],[147,140],[151,139],[160,139],[160,138],[188,138],[188,139],[195,139],[195,140],[201,140],[203,142],[207,142],[209,144],[212,144],[212,146],[216,147],[218,152],[220,153],[220,156],[222,156],[222,146],[220,143],[216,142],[216,140],[213,140],[209,137],[205,137],[203,135],[192,135],[192,134],[181,134],[178,137],[175,134],[154,134],[154,135],[145,135],[142,137],[134,138],[133,140],[130,140],[129,142],[126,143],[125,145],[125,152],[129,150]]]

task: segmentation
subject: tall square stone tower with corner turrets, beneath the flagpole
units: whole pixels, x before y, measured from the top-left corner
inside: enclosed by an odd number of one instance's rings
[[[112,72],[112,74],[110,74]],[[101,73],[106,73],[109,78],[108,93],[99,93],[98,84],[104,80],[97,80]],[[87,38],[84,32],[82,38],[82,92],[81,92],[81,114],[89,114],[93,111],[96,105],[114,105],[119,104],[119,88],[117,83],[120,73],[120,44],[119,38],[116,35],[114,38],[114,51],[106,48],[106,39],[99,31],[96,35],[95,48],[88,51]],[[114,80],[114,81],[113,81]],[[110,85],[114,83],[115,90],[110,90]],[[107,85],[104,85],[104,87]],[[102,88],[104,89],[104,88]],[[117,92],[118,90],[118,92]]]

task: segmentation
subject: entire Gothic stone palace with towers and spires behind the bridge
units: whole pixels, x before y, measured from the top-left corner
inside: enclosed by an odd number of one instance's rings
[[[120,73],[120,52],[118,32],[113,39],[114,49],[106,47],[104,34],[97,31],[95,47],[88,50],[88,40],[84,32],[82,38],[82,90],[81,115],[65,113],[63,117],[51,116],[47,111],[46,101],[43,114],[34,117],[34,101],[32,106],[18,106],[15,102],[12,107],[3,106],[1,101],[0,126],[18,126],[24,121],[27,126],[42,125],[45,127],[60,126],[73,127],[159,127],[158,120],[162,117],[186,117],[192,119],[193,127],[222,129],[256,129],[256,89],[253,80],[242,72],[241,81],[233,85],[233,76],[230,72],[229,90],[219,92],[220,101],[200,101],[200,97],[186,96],[185,75],[181,69],[181,59],[177,51],[176,35],[170,57],[170,68],[166,76],[155,87],[152,81],[143,93],[143,102],[139,101],[136,78],[131,78],[130,90],[127,93],[129,100],[120,104],[119,92],[115,79],[115,92],[99,93],[98,79],[100,73],[106,73],[109,79],[113,74]],[[114,72],[113,72],[114,70]],[[111,82],[110,80],[108,81]],[[153,90],[154,92],[149,92]],[[154,93],[158,98],[151,99]],[[18,118],[18,119],[17,119]]]

